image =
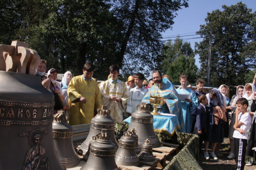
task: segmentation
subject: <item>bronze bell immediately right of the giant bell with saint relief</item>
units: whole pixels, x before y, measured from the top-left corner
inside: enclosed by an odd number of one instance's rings
[[[80,163],[80,158],[73,148],[72,131],[64,111],[58,111],[54,115],[53,139],[60,163],[65,168],[74,167]]]

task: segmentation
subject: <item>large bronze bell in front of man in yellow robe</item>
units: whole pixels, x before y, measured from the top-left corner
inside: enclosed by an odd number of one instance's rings
[[[91,141],[92,137],[101,132],[102,129],[106,129],[108,131],[110,139],[112,143],[115,144],[117,150],[118,144],[115,138],[115,121],[110,117],[109,114],[110,110],[107,108],[107,106],[102,106],[101,109],[98,109],[98,114],[91,119],[89,134],[80,147],[84,153],[87,152],[89,142]]]

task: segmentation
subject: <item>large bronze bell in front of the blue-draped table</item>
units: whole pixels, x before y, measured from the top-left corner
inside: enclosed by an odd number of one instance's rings
[[[139,106],[140,108],[138,108]],[[154,116],[150,113],[150,106],[146,105],[144,102],[142,102],[141,105],[137,105],[137,110],[131,115],[131,123],[128,131],[133,128],[136,129],[140,148],[146,139],[150,140],[153,148],[160,146],[160,141],[154,132],[153,120]]]

